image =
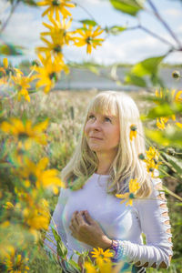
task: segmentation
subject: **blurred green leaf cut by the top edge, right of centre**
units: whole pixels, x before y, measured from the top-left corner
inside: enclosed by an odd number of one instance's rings
[[[139,0],[110,0],[111,5],[117,10],[132,16],[136,16],[140,10],[144,9],[141,2]]]

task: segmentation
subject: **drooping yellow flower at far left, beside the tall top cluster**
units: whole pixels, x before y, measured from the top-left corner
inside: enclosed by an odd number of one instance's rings
[[[18,91],[18,100],[21,99],[21,96],[24,96],[25,100],[30,102],[30,96],[27,89],[31,87],[30,82],[33,78],[28,76],[22,76],[20,73],[17,73],[16,76],[12,76],[11,78],[15,84],[15,89]]]

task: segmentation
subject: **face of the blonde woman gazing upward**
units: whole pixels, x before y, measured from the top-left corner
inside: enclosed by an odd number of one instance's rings
[[[95,152],[113,153],[120,139],[119,118],[90,112],[85,126],[88,147]]]

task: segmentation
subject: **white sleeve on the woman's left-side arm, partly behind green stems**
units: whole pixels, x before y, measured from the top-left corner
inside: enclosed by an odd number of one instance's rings
[[[49,251],[49,252],[52,251],[52,253],[57,254],[56,239],[53,235],[52,228],[51,228],[51,227],[54,227],[57,230],[57,233],[61,237],[64,245],[66,246],[68,250],[67,257],[70,258],[70,256],[73,254],[73,251],[69,249],[67,246],[66,231],[63,226],[63,210],[66,206],[66,200],[68,197],[67,190],[68,189],[61,188],[55,211],[53,213],[51,222],[49,224],[48,230],[45,235],[46,238],[45,238],[44,246],[46,251]],[[47,238],[49,238],[52,242],[50,242]]]

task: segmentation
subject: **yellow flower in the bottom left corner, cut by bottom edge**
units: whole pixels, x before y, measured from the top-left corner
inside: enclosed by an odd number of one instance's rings
[[[13,248],[10,254],[8,253],[5,255],[4,264],[7,269],[7,272],[27,273],[27,270],[29,270],[29,268],[26,266],[27,261],[28,258],[23,258],[22,255],[16,254],[15,249]]]

